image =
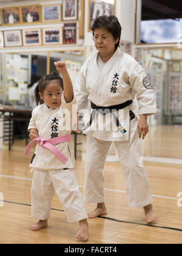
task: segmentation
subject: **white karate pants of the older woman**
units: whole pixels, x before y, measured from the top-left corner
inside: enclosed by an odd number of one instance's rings
[[[126,179],[128,204],[132,208],[152,204],[152,195],[143,164],[143,140],[137,131],[138,120],[130,121],[129,140],[114,141]],[[87,135],[84,201],[104,202],[104,162],[112,141]],[[113,176],[116,176],[113,171]]]

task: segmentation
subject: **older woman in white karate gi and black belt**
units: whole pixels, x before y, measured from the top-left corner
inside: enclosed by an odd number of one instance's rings
[[[126,178],[129,206],[143,207],[151,224],[157,216],[143,165],[142,138],[148,132],[147,116],[157,112],[153,87],[144,69],[121,52],[121,26],[115,16],[99,16],[92,31],[98,52],[82,66],[75,88],[78,111],[87,108],[89,101],[92,107],[83,130],[87,135],[84,199],[97,204],[89,218],[107,214],[103,169],[114,141]],[[133,101],[135,96],[138,104]]]

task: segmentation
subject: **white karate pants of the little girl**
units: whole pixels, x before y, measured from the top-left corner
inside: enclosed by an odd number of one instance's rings
[[[74,169],[34,169],[32,182],[32,216],[49,219],[53,195],[61,201],[68,222],[87,218],[83,196],[79,191]]]

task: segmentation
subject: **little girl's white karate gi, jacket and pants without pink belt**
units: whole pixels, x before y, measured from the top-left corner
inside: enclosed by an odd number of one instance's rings
[[[75,99],[66,103],[64,94],[60,108],[53,110],[46,104],[38,105],[32,112],[29,131],[38,129],[39,137],[44,139],[69,135],[73,125],[70,123],[73,121],[72,109],[75,109],[75,105]],[[54,146],[67,157],[66,163],[62,163],[53,152],[38,144],[30,163],[30,167],[35,171],[32,182],[32,216],[42,220],[49,219],[52,198],[56,191],[68,222],[86,219],[87,212],[73,169],[75,158],[72,141]]]

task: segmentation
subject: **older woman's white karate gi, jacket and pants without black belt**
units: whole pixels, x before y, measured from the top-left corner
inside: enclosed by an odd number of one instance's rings
[[[133,100],[136,95],[138,104],[133,101],[117,111],[125,133],[118,131],[116,125],[111,130],[107,129],[113,122],[110,113],[104,117],[96,113],[91,126],[83,131],[87,134],[84,199],[90,203],[104,202],[104,162],[111,141],[115,141],[126,177],[129,206],[143,207],[152,203],[152,196],[143,165],[143,140],[138,137],[137,124],[138,115],[157,112],[153,88],[144,69],[120,48],[116,49],[102,70],[99,70],[98,60],[99,53],[96,52],[86,60],[79,73],[75,85],[78,111],[87,108],[88,100],[95,105],[109,107]],[[133,118],[130,118],[130,110],[135,114]],[[104,130],[99,130],[101,121]]]

